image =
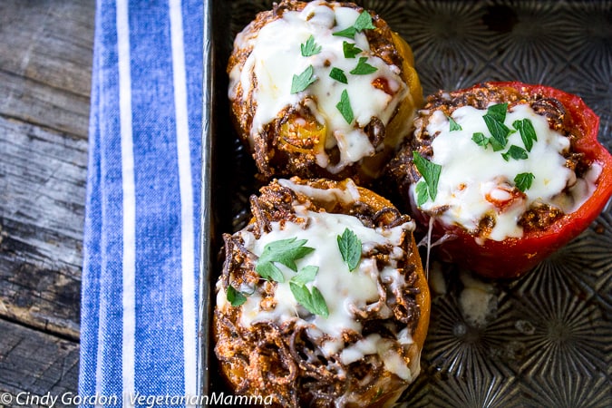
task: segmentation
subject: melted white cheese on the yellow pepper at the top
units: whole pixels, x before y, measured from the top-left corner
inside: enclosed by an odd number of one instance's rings
[[[409,93],[399,76],[400,68],[389,66],[374,56],[364,32],[355,33],[355,39],[334,35],[353,26],[359,15],[351,7],[315,1],[306,5],[301,12],[284,12],[282,18],[265,24],[257,35],[248,30],[238,34],[235,47],[252,51],[244,67],[240,68],[237,64],[229,73],[229,96],[235,98],[240,84],[243,100],[251,98],[257,102],[251,139],[277,119],[279,112],[305,102],[316,121],[326,129],[325,143],[320,143],[316,148],[319,166],[336,173],[349,164],[374,155],[374,146],[364,132],[364,126],[373,117],[386,125],[398,103]],[[311,36],[320,46],[320,52],[304,56],[302,45]],[[362,51],[354,58],[346,58],[343,49],[345,43],[355,44]],[[376,69],[374,73],[351,73],[360,58],[366,58],[364,63],[373,66]],[[314,70],[315,82],[302,92],[292,93],[294,75],[304,73],[310,66]],[[346,84],[330,77],[334,68],[345,73]],[[257,86],[254,86],[253,77]],[[384,92],[380,86],[374,86],[379,78],[384,80],[391,94]],[[355,118],[350,123],[336,107],[343,92],[347,92]],[[330,163],[325,149],[335,146],[339,148],[340,160]]]

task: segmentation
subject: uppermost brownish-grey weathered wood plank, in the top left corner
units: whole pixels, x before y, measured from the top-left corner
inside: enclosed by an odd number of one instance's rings
[[[0,2],[0,114],[86,138],[94,0]]]

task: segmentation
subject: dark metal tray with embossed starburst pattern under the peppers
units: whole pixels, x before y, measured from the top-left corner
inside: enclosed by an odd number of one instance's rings
[[[612,3],[357,2],[413,47],[425,95],[481,81],[544,83],[580,95],[612,150]],[[210,341],[221,232],[239,228],[255,168],[228,121],[235,34],[269,1],[205,1],[201,392],[223,388]],[[410,406],[612,406],[612,210],[520,279],[484,281],[434,262],[432,319]],[[476,301],[475,303],[472,301]],[[476,305],[476,307],[474,307]]]

